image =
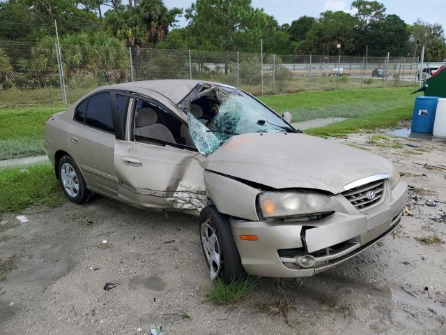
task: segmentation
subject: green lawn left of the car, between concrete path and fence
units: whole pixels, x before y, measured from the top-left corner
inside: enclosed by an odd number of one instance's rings
[[[8,107],[0,110],[0,160],[45,154],[43,125],[64,105]]]

